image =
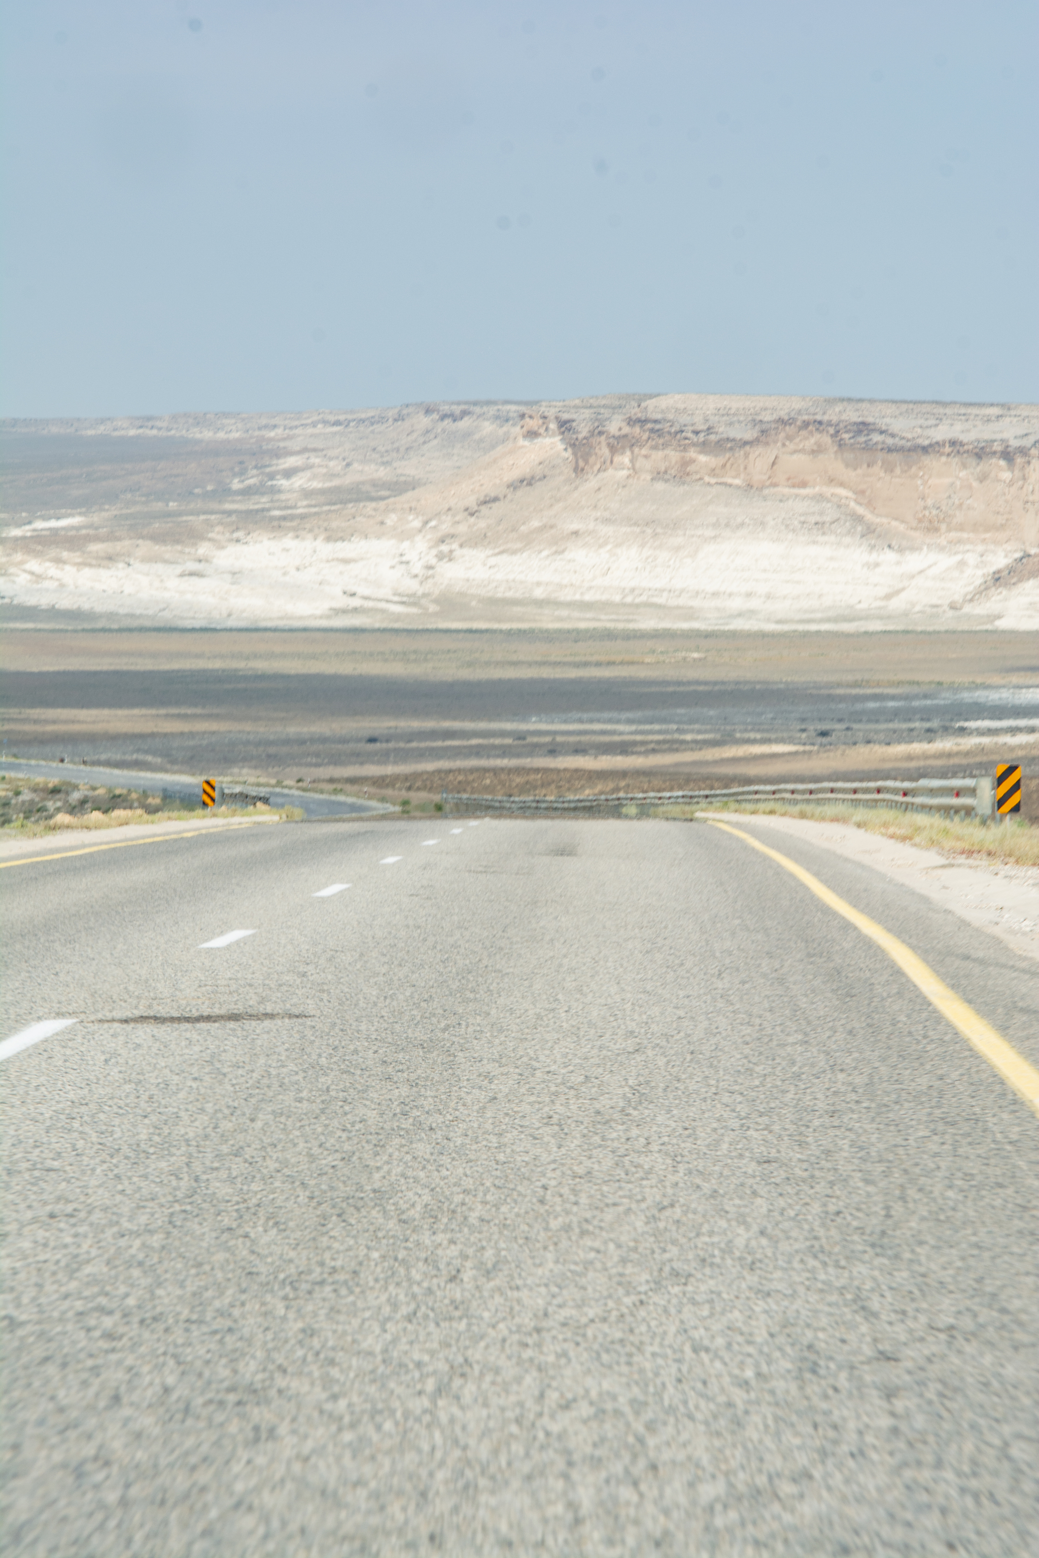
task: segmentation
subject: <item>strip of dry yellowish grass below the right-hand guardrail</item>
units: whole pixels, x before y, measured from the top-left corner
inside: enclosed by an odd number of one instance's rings
[[[704,807],[660,807],[657,816],[693,816]],[[762,801],[751,805],[721,801],[712,812],[732,812],[751,816],[804,816],[816,823],[851,823],[868,834],[883,834],[903,844],[919,849],[938,849],[956,858],[998,862],[1000,865],[1039,866],[1039,827],[1028,823],[975,823],[947,821],[927,816],[922,812],[897,812],[894,807],[865,805],[784,805],[782,801]]]

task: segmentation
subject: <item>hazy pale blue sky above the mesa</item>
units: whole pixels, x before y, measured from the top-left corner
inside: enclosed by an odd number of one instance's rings
[[[0,410],[1039,400],[1037,17],[6,0]]]

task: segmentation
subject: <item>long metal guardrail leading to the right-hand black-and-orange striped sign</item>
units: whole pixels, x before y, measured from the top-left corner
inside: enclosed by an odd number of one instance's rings
[[[969,779],[849,779],[833,784],[741,785],[735,790],[651,790],[643,795],[449,795],[444,812],[481,816],[646,816],[667,805],[710,805],[718,801],[784,801],[821,805],[894,807],[900,812],[936,812],[946,816],[994,815],[994,785],[988,774]]]

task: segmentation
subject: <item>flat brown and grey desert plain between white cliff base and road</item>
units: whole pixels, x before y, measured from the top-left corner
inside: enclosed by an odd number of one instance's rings
[[[1039,777],[1025,633],[42,631],[3,636],[8,754],[372,795],[766,777]]]

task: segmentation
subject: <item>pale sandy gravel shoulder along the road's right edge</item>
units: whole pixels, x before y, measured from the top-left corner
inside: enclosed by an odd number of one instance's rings
[[[699,815],[718,815],[720,821],[740,826],[740,818],[731,813]],[[958,863],[936,849],[919,849],[844,823],[815,823],[801,816],[752,816],[749,821],[755,829],[804,838],[846,860],[872,866],[978,930],[991,932],[1023,957],[1039,960],[1039,866]]]

